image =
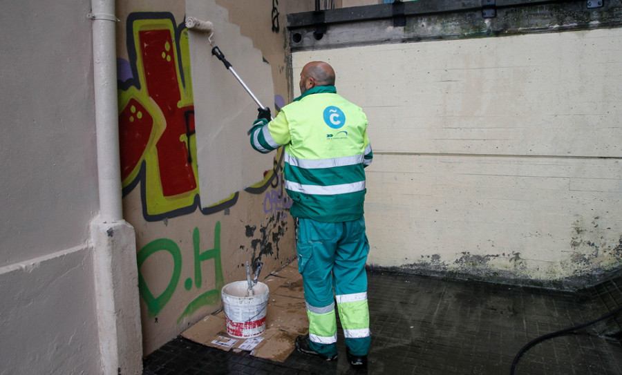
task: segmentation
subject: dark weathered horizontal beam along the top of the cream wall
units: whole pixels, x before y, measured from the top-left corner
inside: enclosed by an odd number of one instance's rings
[[[622,0],[605,1],[600,8],[588,8],[587,1],[598,0],[408,1],[322,10],[321,22],[317,12],[294,13],[288,15],[290,48],[295,52],[622,26]]]

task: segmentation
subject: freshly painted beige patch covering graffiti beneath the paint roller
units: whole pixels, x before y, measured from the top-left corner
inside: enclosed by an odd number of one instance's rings
[[[251,39],[229,23],[225,8],[214,0],[187,0],[186,15],[214,23],[212,41],[263,106],[274,115],[272,70]],[[209,35],[189,31],[194,95],[194,126],[201,206],[229,198],[263,180],[274,153],[252,149],[247,131],[258,105],[223,63],[211,55]]]

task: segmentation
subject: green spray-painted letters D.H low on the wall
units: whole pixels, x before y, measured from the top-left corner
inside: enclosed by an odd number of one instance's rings
[[[208,291],[200,294],[198,297],[194,298],[189,304],[185,307],[182,314],[179,316],[177,323],[185,318],[186,316],[191,315],[194,311],[198,310],[200,307],[207,305],[215,305],[220,300],[220,289],[224,286],[223,280],[223,266],[220,260],[220,222],[216,222],[216,227],[214,227],[214,248],[208,250],[201,249],[200,242],[200,233],[198,228],[195,228],[192,233],[192,244],[193,244],[193,275],[189,276],[185,279],[185,289],[187,291],[191,291],[193,287],[196,289],[201,289],[203,285],[203,273],[202,273],[202,263],[211,261],[213,262],[214,267],[214,289],[209,289]],[[142,265],[149,257],[153,256],[160,251],[164,251],[169,253],[172,259],[171,263],[171,279],[164,291],[159,296],[153,296],[147,281],[142,276],[141,268]],[[150,316],[157,316],[160,311],[167,305],[171,297],[175,293],[177,286],[182,278],[182,251],[178,247],[175,241],[169,240],[168,238],[159,238],[158,240],[153,240],[148,244],[144,245],[137,254],[138,258],[138,289],[140,291],[140,296],[147,304],[147,309],[149,309]],[[160,269],[162,273],[165,273],[166,270]],[[193,278],[194,276],[194,278]]]

